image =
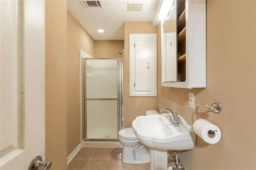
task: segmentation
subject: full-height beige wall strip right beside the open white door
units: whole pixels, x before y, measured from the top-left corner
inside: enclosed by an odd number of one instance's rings
[[[66,9],[66,1],[45,1],[45,159],[52,160],[51,170],[67,168]]]

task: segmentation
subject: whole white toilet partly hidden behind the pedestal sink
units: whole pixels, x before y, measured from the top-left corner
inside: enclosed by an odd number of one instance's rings
[[[155,110],[146,111],[146,115],[158,114]],[[132,128],[124,128],[118,132],[118,140],[123,145],[122,162],[125,164],[145,164],[150,162],[148,147],[140,143]]]

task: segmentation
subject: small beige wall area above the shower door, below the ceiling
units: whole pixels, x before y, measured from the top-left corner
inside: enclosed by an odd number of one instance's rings
[[[118,52],[124,49],[124,40],[97,40],[94,41],[95,58],[121,57]]]

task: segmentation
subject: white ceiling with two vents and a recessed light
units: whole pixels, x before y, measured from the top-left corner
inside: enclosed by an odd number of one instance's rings
[[[68,11],[94,40],[124,40],[125,21],[154,21],[161,4],[161,0],[101,0],[103,8],[84,8],[81,2],[68,0]],[[128,12],[127,2],[142,3],[142,12]],[[98,33],[99,28],[105,32]]]

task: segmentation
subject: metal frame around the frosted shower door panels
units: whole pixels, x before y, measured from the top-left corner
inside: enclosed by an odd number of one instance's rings
[[[117,63],[117,98],[87,99],[86,95],[86,60],[116,60]],[[117,101],[117,136],[118,131],[124,128],[124,95],[123,95],[123,58],[82,58],[82,141],[118,141],[117,138],[87,138],[87,101],[116,100]]]

